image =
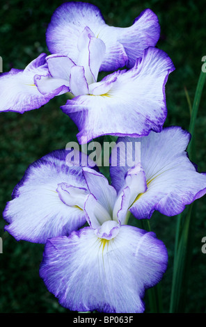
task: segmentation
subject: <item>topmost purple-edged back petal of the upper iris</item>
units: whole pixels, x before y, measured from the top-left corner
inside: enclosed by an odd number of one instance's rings
[[[90,3],[68,2],[56,9],[47,29],[47,46],[52,54],[70,56],[77,64],[79,37],[88,27],[106,45],[100,70],[132,67],[144,49],[159,40],[159,22],[152,10],[146,9],[127,28],[108,26],[99,8]]]

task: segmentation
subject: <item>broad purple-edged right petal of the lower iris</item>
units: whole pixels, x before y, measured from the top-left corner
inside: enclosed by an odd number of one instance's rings
[[[189,140],[190,134],[180,127],[151,132],[143,138],[119,138],[125,143],[141,142],[141,166],[147,190],[139,193],[136,186],[136,199],[129,209],[136,218],[150,218],[154,210],[174,216],[180,214],[185,205],[205,195],[206,174],[198,173],[189,161],[186,152]],[[124,186],[127,171],[128,166],[111,167],[111,181],[117,191]]]

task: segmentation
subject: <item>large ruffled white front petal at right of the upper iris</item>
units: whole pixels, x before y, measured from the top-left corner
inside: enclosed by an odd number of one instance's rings
[[[77,124],[79,143],[106,134],[134,137],[161,131],[167,115],[165,84],[173,70],[171,58],[150,47],[131,70],[114,72],[91,84],[90,95],[68,100],[61,109]]]

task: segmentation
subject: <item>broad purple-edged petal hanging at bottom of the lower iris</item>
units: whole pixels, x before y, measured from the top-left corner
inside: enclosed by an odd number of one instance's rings
[[[40,277],[69,310],[136,313],[144,311],[145,289],[161,280],[167,260],[152,232],[125,225],[106,240],[82,228],[47,241]]]

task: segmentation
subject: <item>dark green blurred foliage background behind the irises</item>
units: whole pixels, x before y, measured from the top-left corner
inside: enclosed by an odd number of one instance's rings
[[[62,2],[1,1],[0,56],[3,58],[3,72],[12,67],[24,69],[40,53],[49,54],[45,31],[52,13]],[[150,8],[157,14],[161,25],[161,37],[157,47],[168,53],[176,67],[166,84],[168,117],[165,125],[179,125],[188,129],[190,113],[185,88],[193,102],[203,65],[201,58],[206,55],[205,1],[93,0],[90,3],[100,8],[106,23],[112,26],[130,26],[145,8]],[[10,93],[12,91],[9,90]],[[0,114],[1,212],[30,163],[52,150],[65,148],[69,141],[77,141],[77,127],[59,108],[65,101],[65,95],[61,95],[41,109],[29,111],[24,115]],[[204,90],[196,124],[196,163],[199,172],[206,170],[205,105]],[[201,240],[206,236],[205,212],[206,198],[201,198],[196,205],[186,312],[206,312],[206,255],[201,252]],[[166,217],[155,212],[150,224],[168,249],[168,270],[161,281],[164,312],[168,312],[176,217]],[[1,218],[3,253],[0,254],[0,312],[68,312],[49,294],[38,275],[44,246],[15,241],[10,234],[3,232],[4,225],[5,221]],[[150,312],[148,306],[145,312]]]

